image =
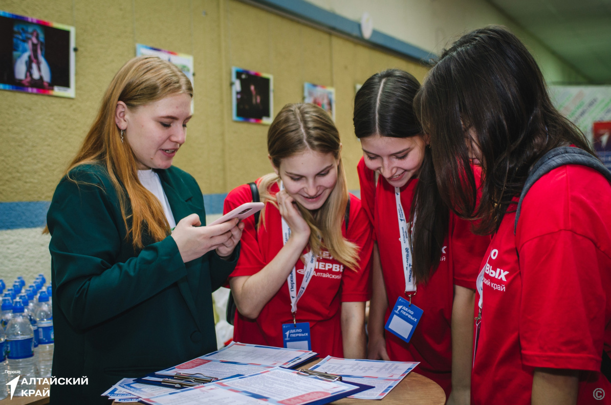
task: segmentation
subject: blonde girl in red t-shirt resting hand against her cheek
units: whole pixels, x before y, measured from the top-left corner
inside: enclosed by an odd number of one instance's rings
[[[244,221],[230,278],[233,340],[307,349],[309,328],[312,351],[365,357],[371,225],[348,193],[341,149],[331,117],[312,104],[284,106],[269,127],[274,173],[257,180],[265,208],[257,224]],[[242,185],[224,210],[249,201]]]

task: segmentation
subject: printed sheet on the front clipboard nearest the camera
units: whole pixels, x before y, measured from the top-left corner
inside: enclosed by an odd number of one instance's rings
[[[370,387],[305,376],[276,367],[250,376],[141,399],[150,405],[302,405],[327,404]]]

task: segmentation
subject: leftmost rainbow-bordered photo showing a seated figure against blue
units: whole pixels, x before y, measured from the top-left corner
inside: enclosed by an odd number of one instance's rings
[[[0,89],[75,97],[75,28],[0,11]]]

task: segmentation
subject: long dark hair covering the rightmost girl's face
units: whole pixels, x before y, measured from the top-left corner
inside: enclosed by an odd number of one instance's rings
[[[535,59],[502,26],[469,32],[445,50],[414,103],[431,136],[441,196],[459,217],[480,220],[479,234],[499,229],[530,168],[547,151],[574,144],[593,152],[579,129],[552,105]],[[481,150],[479,204],[469,133],[476,134]]]

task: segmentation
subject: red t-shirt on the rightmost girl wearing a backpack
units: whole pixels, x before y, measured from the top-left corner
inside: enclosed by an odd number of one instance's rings
[[[480,266],[475,404],[530,404],[535,367],[585,370],[579,404],[601,404],[596,388],[611,395],[599,373],[611,349],[610,207],[601,174],[566,165],[530,188],[515,236],[516,213],[505,214]]]

